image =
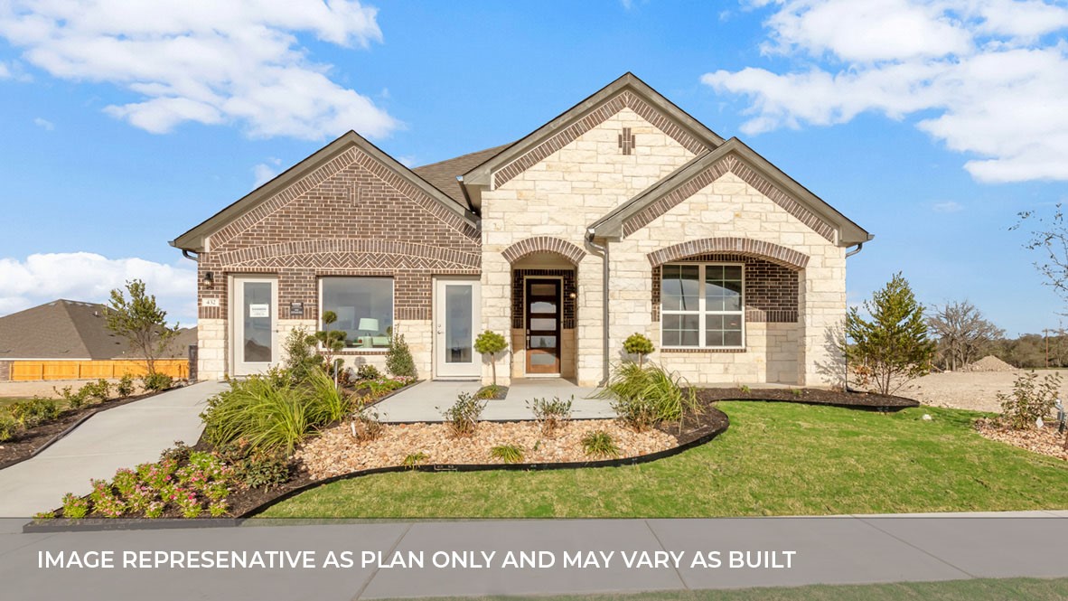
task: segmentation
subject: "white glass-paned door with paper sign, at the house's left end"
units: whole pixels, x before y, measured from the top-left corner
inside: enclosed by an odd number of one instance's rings
[[[231,338],[234,375],[262,374],[278,363],[278,281],[273,278],[234,278]]]

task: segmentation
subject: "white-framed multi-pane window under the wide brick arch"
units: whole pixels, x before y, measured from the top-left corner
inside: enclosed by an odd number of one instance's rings
[[[684,263],[660,269],[660,344],[666,348],[742,348],[741,265]]]

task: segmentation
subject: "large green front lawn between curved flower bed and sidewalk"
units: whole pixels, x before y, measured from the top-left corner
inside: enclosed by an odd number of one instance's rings
[[[720,402],[731,428],[651,463],[343,480],[271,518],[816,516],[1064,508],[1068,463],[989,441],[980,413]],[[933,421],[921,417],[930,413]],[[433,458],[431,458],[433,460]]]

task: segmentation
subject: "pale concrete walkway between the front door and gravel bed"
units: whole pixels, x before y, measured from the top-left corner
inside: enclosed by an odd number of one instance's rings
[[[461,393],[474,394],[476,381],[427,380],[387,398],[375,406],[382,422],[442,422],[441,412],[456,402]],[[612,418],[615,412],[608,400],[591,398],[596,389],[582,388],[562,378],[521,378],[512,380],[508,396],[486,402],[482,418],[490,422],[533,420],[527,406],[535,398],[552,400],[572,398],[571,417],[576,420]]]

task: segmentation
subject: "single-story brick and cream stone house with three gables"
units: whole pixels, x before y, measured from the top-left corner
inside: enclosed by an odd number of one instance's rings
[[[846,257],[871,236],[626,74],[523,139],[408,169],[356,132],[173,242],[199,263],[202,378],[277,364],[296,327],[349,365],[404,334],[423,378],[595,385],[634,332],[691,382],[828,383]]]

